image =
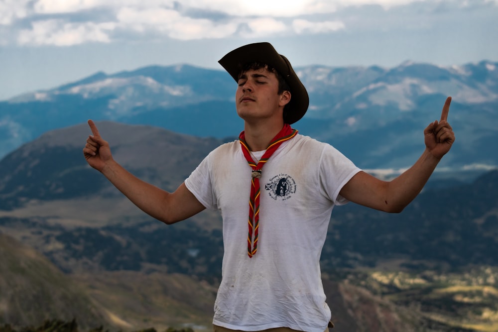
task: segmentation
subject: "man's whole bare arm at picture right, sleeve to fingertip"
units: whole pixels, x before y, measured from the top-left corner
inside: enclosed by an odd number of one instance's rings
[[[425,150],[412,167],[391,181],[382,181],[366,172],[359,172],[341,189],[340,195],[376,210],[401,212],[420,193],[455,141],[455,134],[447,121],[450,103],[451,97],[448,97],[441,119],[425,128]]]

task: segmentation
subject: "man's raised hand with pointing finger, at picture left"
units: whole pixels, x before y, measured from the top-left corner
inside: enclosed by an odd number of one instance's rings
[[[97,129],[94,121],[88,120],[88,125],[92,130],[92,135],[87,138],[87,143],[83,148],[83,155],[90,166],[102,172],[106,163],[113,160],[111,148],[109,143],[100,136],[99,129]]]

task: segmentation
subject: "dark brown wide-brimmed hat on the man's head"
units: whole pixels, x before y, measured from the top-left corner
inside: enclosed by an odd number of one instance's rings
[[[251,62],[261,62],[275,68],[290,87],[290,102],[286,106],[284,122],[292,124],[303,117],[308,110],[309,97],[306,88],[292,69],[289,60],[273,48],[270,43],[254,43],[236,48],[220,61],[220,65],[234,78],[239,80],[242,67]]]

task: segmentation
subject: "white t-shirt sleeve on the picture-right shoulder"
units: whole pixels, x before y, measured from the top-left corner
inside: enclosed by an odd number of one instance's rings
[[[322,189],[335,205],[344,205],[349,201],[339,192],[361,169],[333,146],[326,144],[320,163],[320,181]]]

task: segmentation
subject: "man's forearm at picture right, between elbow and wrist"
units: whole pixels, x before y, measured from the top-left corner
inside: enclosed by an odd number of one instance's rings
[[[422,191],[440,159],[427,149],[412,167],[388,182],[385,203],[391,212],[401,212]]]

